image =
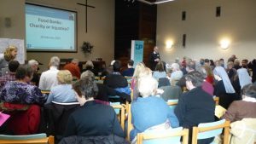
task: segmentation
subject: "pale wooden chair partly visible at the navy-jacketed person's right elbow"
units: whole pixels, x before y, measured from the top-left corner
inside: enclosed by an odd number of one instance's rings
[[[123,130],[125,130],[125,106],[120,105],[119,102],[111,102],[110,106],[113,107],[115,113],[119,115],[119,122]]]

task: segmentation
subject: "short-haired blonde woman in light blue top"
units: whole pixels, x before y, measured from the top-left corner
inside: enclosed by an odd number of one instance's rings
[[[72,89],[72,74],[67,70],[61,70],[57,73],[59,85],[53,87],[50,92],[46,103],[51,101],[68,103],[77,101],[75,92]]]

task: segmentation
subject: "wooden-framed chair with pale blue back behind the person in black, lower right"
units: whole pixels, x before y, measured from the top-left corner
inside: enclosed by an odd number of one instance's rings
[[[207,139],[220,135],[224,129],[224,144],[229,143],[230,121],[225,119],[212,123],[199,124],[193,127],[192,144],[197,144],[197,140]]]

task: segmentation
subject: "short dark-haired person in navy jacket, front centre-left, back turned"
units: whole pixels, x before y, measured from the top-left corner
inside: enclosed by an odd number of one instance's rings
[[[85,77],[73,84],[80,108],[67,121],[65,136],[119,135],[125,137],[113,107],[97,104],[98,88],[93,78]]]

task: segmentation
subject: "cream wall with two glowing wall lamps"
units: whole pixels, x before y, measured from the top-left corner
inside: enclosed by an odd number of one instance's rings
[[[215,17],[221,6],[221,16]],[[172,62],[176,57],[227,60],[235,54],[240,59],[256,58],[255,0],[176,0],[157,7],[157,45],[162,60]],[[186,20],[182,19],[186,11]],[[182,36],[187,35],[186,47]],[[220,49],[219,41],[230,38],[230,48]],[[172,40],[172,49],[166,41]]]

